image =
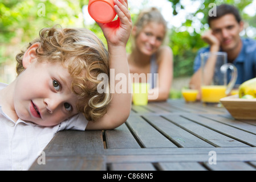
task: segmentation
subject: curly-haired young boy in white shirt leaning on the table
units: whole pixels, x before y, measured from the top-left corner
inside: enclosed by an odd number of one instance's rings
[[[98,23],[108,51],[88,30],[52,27],[17,55],[17,78],[0,85],[1,170],[29,169],[58,131],[114,129],[126,121],[128,90],[97,92],[100,73],[115,69],[127,78],[129,73],[125,46],[131,15],[127,0],[114,2],[119,19]]]

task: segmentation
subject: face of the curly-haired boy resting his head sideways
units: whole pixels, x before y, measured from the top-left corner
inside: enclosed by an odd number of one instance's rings
[[[78,114],[78,96],[71,92],[71,82],[67,68],[60,63],[32,61],[17,77],[14,109],[18,117],[41,126],[54,126]]]

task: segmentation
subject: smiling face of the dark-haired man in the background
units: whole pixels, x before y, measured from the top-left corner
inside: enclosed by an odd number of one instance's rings
[[[213,35],[220,41],[225,52],[233,51],[241,46],[239,33],[243,30],[243,22],[238,23],[233,14],[226,14],[210,22]]]

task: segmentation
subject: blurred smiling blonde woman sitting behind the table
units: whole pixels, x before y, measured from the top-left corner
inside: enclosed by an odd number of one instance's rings
[[[155,7],[141,11],[132,29],[132,52],[128,55],[129,70],[133,82],[143,75],[146,76],[145,81],[151,84],[149,101],[166,101],[172,85],[172,49],[162,45],[166,32],[166,21]],[[148,74],[151,74],[151,77]],[[140,82],[144,82],[143,79],[140,79]]]

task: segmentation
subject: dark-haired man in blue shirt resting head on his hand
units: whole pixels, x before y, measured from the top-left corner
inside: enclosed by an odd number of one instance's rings
[[[202,39],[209,44],[201,48],[194,60],[194,75],[190,85],[200,90],[201,85],[201,58],[203,52],[226,52],[227,62],[237,67],[238,77],[236,84],[256,76],[256,42],[248,38],[241,38],[239,33],[243,30],[243,21],[239,11],[231,5],[217,6],[216,16],[208,17],[210,30],[202,35]],[[210,62],[210,61],[208,61]],[[206,73],[213,71],[215,63],[206,63]],[[208,79],[209,74],[204,76]],[[200,99],[200,96],[198,96]]]

